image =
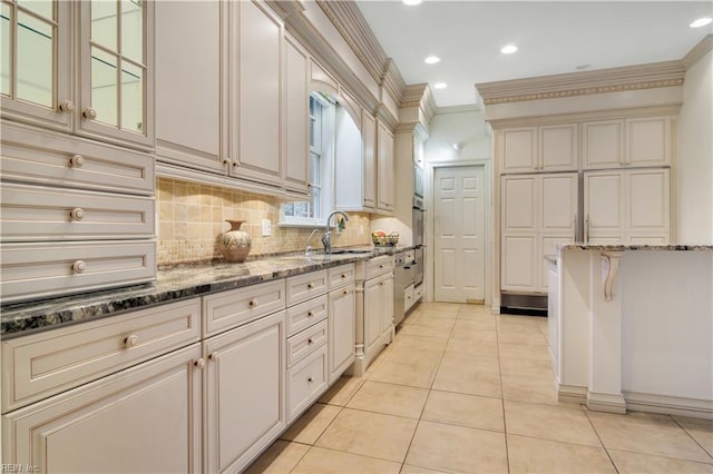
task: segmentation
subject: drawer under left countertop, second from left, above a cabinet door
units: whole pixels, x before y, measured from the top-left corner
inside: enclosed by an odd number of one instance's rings
[[[203,335],[217,334],[285,308],[285,280],[251,285],[203,297]]]

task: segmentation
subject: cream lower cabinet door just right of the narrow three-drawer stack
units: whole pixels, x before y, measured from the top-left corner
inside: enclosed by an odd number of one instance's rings
[[[330,377],[332,384],[354,362],[356,342],[356,288],[351,284],[329,294]]]

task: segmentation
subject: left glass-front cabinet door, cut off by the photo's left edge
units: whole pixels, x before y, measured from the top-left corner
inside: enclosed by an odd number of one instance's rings
[[[68,1],[0,1],[2,117],[71,130]]]

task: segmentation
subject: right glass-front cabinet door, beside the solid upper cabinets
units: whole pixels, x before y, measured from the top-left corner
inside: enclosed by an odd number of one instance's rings
[[[154,146],[153,2],[80,2],[78,132]]]

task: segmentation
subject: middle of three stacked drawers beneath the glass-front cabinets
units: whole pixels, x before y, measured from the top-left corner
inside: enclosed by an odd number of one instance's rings
[[[154,198],[4,184],[2,240],[152,238]]]

